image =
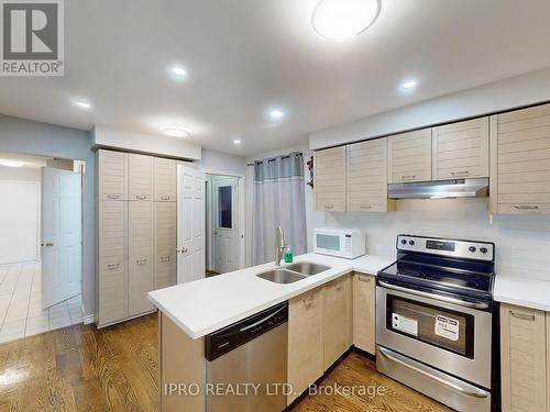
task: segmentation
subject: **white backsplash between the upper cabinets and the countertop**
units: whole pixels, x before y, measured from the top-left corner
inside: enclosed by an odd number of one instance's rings
[[[402,200],[391,213],[327,213],[327,226],[366,230],[367,254],[395,258],[399,233],[494,242],[498,274],[550,280],[550,219],[494,215],[488,199]]]

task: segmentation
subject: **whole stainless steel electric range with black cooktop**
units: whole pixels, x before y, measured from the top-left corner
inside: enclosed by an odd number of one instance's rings
[[[459,411],[495,408],[494,260],[493,243],[397,236],[377,277],[378,371]]]

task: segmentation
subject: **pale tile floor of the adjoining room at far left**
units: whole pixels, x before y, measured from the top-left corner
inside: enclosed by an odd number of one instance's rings
[[[82,323],[81,296],[42,310],[41,264],[0,265],[0,343]]]

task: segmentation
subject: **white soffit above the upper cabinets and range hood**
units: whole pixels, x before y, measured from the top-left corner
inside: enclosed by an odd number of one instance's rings
[[[309,135],[309,147],[341,145],[550,100],[550,67],[374,114]]]

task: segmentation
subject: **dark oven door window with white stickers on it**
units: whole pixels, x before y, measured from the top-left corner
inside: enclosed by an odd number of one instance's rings
[[[387,294],[386,329],[474,358],[474,316]]]

